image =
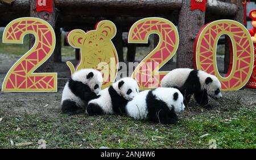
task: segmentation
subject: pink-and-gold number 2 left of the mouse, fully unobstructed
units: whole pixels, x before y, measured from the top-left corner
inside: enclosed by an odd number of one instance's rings
[[[34,34],[35,44],[10,68],[2,92],[57,92],[57,73],[33,73],[55,48],[51,25],[38,18],[15,19],[3,32],[3,43],[23,44],[26,34]]]

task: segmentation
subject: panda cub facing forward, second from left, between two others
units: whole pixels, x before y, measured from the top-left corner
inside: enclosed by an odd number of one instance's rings
[[[86,111],[89,115],[126,114],[127,102],[133,100],[138,93],[137,81],[131,77],[122,78],[101,90],[98,98],[89,101]]]

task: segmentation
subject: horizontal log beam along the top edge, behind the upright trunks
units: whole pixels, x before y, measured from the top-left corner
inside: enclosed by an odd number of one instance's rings
[[[151,11],[164,11],[164,10],[177,10],[182,6],[182,0],[101,0],[101,1],[92,1],[92,0],[55,0],[55,6],[59,10],[71,10],[67,14],[76,14],[77,11],[86,11],[88,9],[92,14],[97,14],[99,10],[108,12],[112,9],[120,10],[121,12],[126,12],[128,15],[131,10],[139,12],[139,10]],[[221,1],[207,1],[207,10],[213,12],[214,14],[222,15],[234,15],[238,11],[238,8],[235,4],[221,2]],[[0,4],[0,12],[10,12],[13,11],[16,14],[19,14],[20,11],[29,11],[30,0],[15,0],[11,6],[6,6]],[[73,10],[76,9],[76,12]],[[101,12],[101,15],[106,15],[108,12]],[[154,14],[153,13],[153,14]],[[79,12],[77,14],[80,14]],[[133,14],[133,13],[131,13]],[[87,15],[87,14],[86,14]]]

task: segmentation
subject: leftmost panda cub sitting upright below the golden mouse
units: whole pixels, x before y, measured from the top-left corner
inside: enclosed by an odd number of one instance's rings
[[[61,110],[73,115],[85,111],[90,100],[97,98],[101,90],[102,75],[94,69],[82,69],[71,76],[63,89]]]

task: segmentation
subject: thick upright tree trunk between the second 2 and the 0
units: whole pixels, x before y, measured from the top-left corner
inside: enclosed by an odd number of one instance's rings
[[[197,33],[204,26],[205,12],[191,11],[191,1],[183,1],[179,15],[180,44],[177,49],[177,68],[193,68],[193,48]]]

